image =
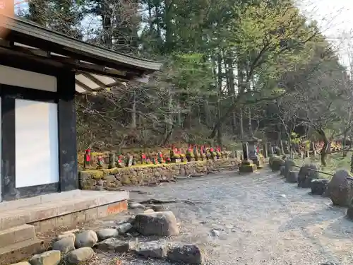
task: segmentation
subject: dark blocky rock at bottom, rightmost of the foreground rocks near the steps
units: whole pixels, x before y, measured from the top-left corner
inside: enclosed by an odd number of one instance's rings
[[[197,245],[173,245],[167,256],[173,262],[203,264],[203,254]]]

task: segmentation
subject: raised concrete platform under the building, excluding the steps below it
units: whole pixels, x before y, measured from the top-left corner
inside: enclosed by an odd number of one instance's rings
[[[75,221],[92,220],[126,210],[127,199],[128,192],[76,190],[6,201],[0,203],[0,230],[32,224],[36,226],[36,232],[43,231],[47,229],[40,223],[53,218],[60,220],[49,222],[50,228],[70,225]],[[123,204],[118,204],[121,202]],[[117,204],[115,208],[114,204]],[[124,207],[125,204],[126,207]],[[119,205],[121,205],[120,208]],[[75,213],[80,215],[77,216]],[[66,220],[62,220],[67,215],[71,215],[72,220],[68,221],[67,217]]]

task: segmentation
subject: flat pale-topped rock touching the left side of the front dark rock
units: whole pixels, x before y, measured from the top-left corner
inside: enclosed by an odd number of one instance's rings
[[[141,242],[136,247],[136,254],[153,259],[163,259],[167,257],[167,242],[165,241],[150,241]]]

